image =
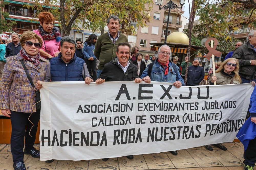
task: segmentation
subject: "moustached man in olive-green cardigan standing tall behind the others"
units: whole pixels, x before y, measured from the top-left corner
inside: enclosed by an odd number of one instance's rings
[[[128,43],[126,36],[118,30],[120,19],[117,16],[110,16],[107,20],[109,31],[99,36],[95,44],[94,55],[100,61],[97,77],[100,76],[104,65],[116,57],[116,47],[118,43]]]

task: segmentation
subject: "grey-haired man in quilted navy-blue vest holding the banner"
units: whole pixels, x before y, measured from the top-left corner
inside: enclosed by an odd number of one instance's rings
[[[76,40],[73,37],[65,36],[61,38],[60,53],[58,57],[54,57],[50,60],[44,81],[85,81],[85,84],[93,82],[86,63],[83,59],[75,55],[76,45]],[[40,81],[36,82],[36,88],[42,88]],[[53,161],[54,159],[45,162],[51,163]]]

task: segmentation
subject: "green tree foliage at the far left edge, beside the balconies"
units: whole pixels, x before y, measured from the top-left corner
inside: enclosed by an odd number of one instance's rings
[[[2,2],[0,3],[0,8],[3,8],[5,5],[8,5],[8,2]],[[12,26],[16,25],[15,21],[9,20],[9,22],[7,22],[7,20],[5,18],[9,17],[9,13],[0,10],[0,33],[3,32],[13,32],[12,31]]]

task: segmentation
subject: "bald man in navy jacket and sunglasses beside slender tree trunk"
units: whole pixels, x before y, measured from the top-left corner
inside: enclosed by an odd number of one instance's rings
[[[199,66],[199,61],[194,60],[193,66],[188,67],[187,86],[197,86],[204,79],[204,68]]]

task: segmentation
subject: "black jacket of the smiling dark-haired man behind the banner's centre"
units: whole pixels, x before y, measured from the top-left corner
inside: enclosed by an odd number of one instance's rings
[[[118,58],[116,57],[109,63],[106,63],[103,67],[102,73],[98,78],[105,79],[106,82],[113,81],[133,81],[138,78],[138,67],[135,66],[130,60],[130,65],[127,71],[124,72],[123,69],[117,63]]]

